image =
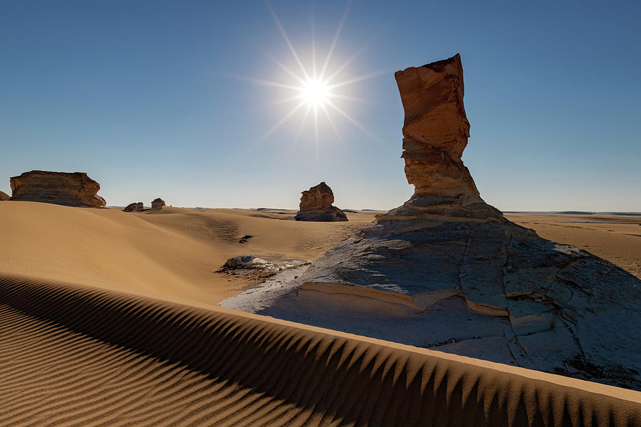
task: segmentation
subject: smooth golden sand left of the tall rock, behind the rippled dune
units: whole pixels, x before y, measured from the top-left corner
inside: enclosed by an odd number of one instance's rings
[[[244,285],[214,273],[227,258],[251,253],[312,260],[372,218],[350,214],[352,222],[337,225],[270,216],[282,217],[171,207],[129,214],[11,201],[0,205],[0,273],[216,304]],[[238,243],[245,235],[255,237]]]

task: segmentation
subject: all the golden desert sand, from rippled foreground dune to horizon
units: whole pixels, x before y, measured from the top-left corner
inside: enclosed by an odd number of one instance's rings
[[[0,425],[641,425],[635,391],[215,307],[226,258],[312,260],[376,212],[293,214],[1,203]],[[641,261],[629,221],[511,219]]]

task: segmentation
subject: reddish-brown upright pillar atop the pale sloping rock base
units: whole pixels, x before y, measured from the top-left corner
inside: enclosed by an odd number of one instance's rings
[[[461,160],[469,137],[461,57],[406,68],[395,78],[405,108],[402,158],[415,196],[437,195],[431,205],[484,203]]]

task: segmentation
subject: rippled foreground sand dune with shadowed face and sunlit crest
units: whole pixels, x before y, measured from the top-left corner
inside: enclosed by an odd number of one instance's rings
[[[641,393],[0,275],[3,426],[639,426]]]

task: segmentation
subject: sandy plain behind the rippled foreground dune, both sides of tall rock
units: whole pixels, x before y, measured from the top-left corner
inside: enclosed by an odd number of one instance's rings
[[[383,213],[348,210],[347,222],[304,222],[291,221],[296,210],[287,209],[121,210],[0,204],[0,271],[215,306],[256,284],[244,275],[217,273],[228,258],[316,260]],[[505,216],[641,278],[641,216]],[[243,236],[252,237],[239,243]]]

